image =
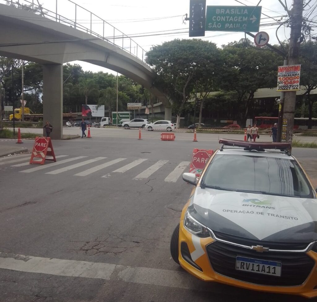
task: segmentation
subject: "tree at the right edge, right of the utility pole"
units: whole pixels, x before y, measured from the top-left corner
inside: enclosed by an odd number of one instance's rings
[[[301,47],[301,82],[308,101],[308,129],[312,128],[313,106],[316,97],[310,93],[317,88],[317,41],[309,41]]]

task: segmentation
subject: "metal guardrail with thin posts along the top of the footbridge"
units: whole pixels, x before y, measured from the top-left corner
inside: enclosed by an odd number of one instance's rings
[[[55,21],[74,27],[77,30],[84,31],[87,34],[95,36],[97,39],[107,41],[120,49],[125,50],[130,55],[135,56],[142,62],[145,62],[146,50],[138,43],[107,21],[95,15],[93,12],[83,8],[71,0],[49,0],[45,3],[46,7],[43,7],[40,4],[39,1],[41,0],[0,1],[6,5],[15,6],[30,12],[33,11],[36,15],[41,15],[48,18],[50,21]],[[67,14],[67,16],[63,16],[58,13],[60,7],[63,8],[63,12],[64,14]],[[36,18],[36,16],[34,18]],[[84,24],[88,24],[88,27]]]

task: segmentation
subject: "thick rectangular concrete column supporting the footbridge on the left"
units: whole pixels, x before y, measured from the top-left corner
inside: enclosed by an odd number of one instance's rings
[[[50,137],[63,136],[63,65],[43,65],[43,125],[46,121],[54,127]],[[45,136],[45,132],[43,132]]]

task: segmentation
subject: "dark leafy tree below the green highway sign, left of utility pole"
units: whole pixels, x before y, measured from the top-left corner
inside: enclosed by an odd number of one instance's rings
[[[241,113],[241,119],[252,117],[254,93],[260,88],[275,87],[282,57],[272,50],[257,49],[246,39],[222,47],[224,66],[220,87],[235,92],[232,105],[235,112]]]

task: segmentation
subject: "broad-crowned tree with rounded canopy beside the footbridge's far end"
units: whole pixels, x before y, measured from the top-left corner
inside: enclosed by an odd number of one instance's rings
[[[146,62],[154,66],[158,75],[154,85],[176,103],[177,128],[184,104],[195,86],[195,77],[208,74],[208,71],[212,74],[217,69],[219,57],[216,44],[201,39],[175,39],[154,46],[147,53]]]

